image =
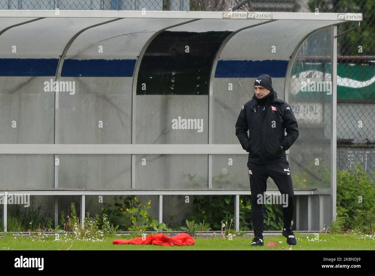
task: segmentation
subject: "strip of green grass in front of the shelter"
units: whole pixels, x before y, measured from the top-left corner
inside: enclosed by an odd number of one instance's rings
[[[55,241],[54,236],[18,236],[7,234],[0,237],[0,250],[375,250],[375,235],[364,234],[296,234],[297,245],[288,246],[282,235],[266,236],[264,244],[270,241],[278,247],[251,247],[252,238],[233,237],[233,240],[222,238],[195,238],[192,246],[156,246],[156,245],[113,245],[114,239],[129,236],[110,235],[102,241],[75,240],[73,235],[68,235],[65,240]],[[319,238],[319,240],[318,240]]]

